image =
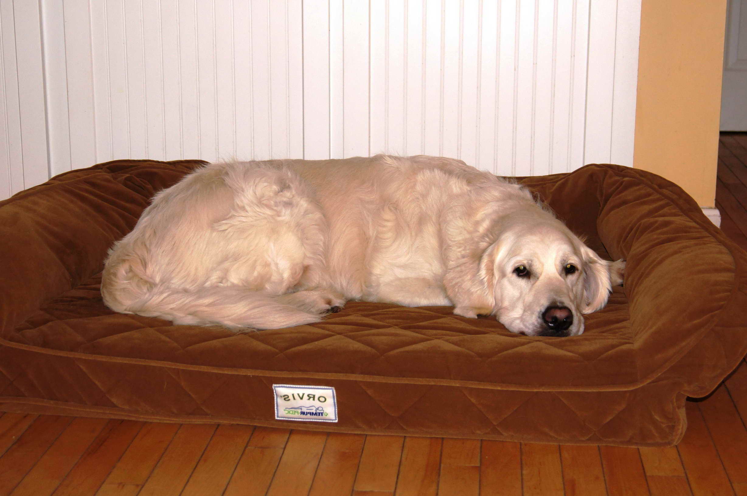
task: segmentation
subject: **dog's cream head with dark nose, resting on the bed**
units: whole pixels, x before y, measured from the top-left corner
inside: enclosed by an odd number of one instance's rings
[[[581,334],[583,314],[604,307],[624,270],[624,261],[602,260],[555,219],[509,226],[478,265],[476,301],[492,305],[509,331],[539,336]],[[484,304],[455,313],[488,313]]]

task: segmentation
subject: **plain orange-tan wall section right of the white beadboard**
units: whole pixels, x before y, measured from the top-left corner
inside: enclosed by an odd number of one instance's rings
[[[727,0],[642,0],[633,167],[713,207]]]

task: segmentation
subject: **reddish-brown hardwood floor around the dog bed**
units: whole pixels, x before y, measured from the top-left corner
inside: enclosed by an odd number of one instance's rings
[[[747,134],[722,134],[722,229],[747,248]],[[0,417],[4,495],[743,495],[747,363],[669,448]]]

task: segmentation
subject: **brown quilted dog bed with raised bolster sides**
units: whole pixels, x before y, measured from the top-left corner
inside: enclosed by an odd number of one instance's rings
[[[580,336],[385,303],[241,334],[115,314],[99,294],[108,248],[199,164],[113,161],[0,202],[0,410],[653,446],[678,442],[686,397],[747,353],[747,255],[681,188],[613,165],[522,180],[627,260]],[[334,388],[337,421],[276,420],[273,385]]]

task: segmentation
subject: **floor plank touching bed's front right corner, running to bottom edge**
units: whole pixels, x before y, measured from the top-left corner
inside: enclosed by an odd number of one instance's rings
[[[678,444],[682,465],[694,496],[733,495],[719,453],[711,441],[700,409],[695,403],[687,402],[687,430]]]

